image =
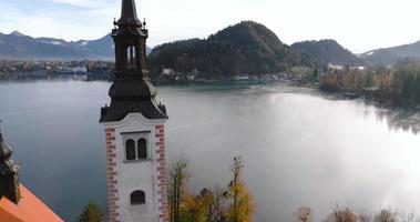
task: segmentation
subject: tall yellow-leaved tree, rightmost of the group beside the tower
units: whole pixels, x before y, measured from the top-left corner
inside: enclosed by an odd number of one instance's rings
[[[232,181],[225,192],[225,196],[232,202],[227,212],[227,219],[229,222],[253,221],[253,198],[243,182],[243,168],[244,164],[240,158],[234,158],[233,165],[231,168]]]

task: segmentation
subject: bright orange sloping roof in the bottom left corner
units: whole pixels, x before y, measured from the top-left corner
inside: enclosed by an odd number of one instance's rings
[[[7,198],[0,200],[1,222],[63,222],[27,188],[20,184],[22,198],[14,204]]]

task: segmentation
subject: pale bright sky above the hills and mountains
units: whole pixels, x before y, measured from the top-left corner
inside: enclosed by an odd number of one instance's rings
[[[243,20],[291,44],[335,39],[355,53],[420,40],[419,0],[136,0],[148,44],[206,38]],[[91,40],[112,29],[121,0],[0,0],[0,32]]]

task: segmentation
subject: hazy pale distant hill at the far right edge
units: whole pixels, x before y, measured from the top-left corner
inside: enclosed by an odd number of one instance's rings
[[[360,58],[371,65],[392,65],[408,57],[420,58],[420,41],[411,44],[371,50],[360,54]]]

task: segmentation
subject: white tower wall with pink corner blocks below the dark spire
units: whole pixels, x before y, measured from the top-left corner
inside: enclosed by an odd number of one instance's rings
[[[164,123],[130,113],[120,122],[105,122],[110,221],[165,222],[166,164]],[[127,140],[146,140],[147,159],[126,159]],[[137,144],[136,144],[137,152]],[[132,204],[131,194],[143,191],[144,204]]]

